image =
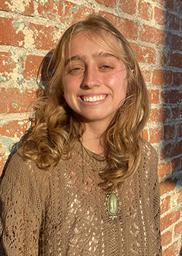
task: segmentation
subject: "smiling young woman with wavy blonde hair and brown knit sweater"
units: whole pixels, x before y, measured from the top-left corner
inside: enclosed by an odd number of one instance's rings
[[[89,16],[63,34],[47,78],[2,179],[1,255],[162,255],[149,97],[129,43]]]

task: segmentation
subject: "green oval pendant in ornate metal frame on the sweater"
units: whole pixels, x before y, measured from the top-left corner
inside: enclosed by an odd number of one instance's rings
[[[106,195],[104,207],[109,218],[115,219],[117,217],[120,206],[121,202],[119,201],[119,197],[116,192],[112,191]]]

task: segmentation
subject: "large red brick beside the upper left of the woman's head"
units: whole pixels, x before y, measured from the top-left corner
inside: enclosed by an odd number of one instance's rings
[[[55,47],[56,43],[54,36],[58,33],[58,29],[55,27],[43,26],[30,23],[28,28],[33,31],[33,38],[35,40],[34,45],[38,50],[50,50]]]

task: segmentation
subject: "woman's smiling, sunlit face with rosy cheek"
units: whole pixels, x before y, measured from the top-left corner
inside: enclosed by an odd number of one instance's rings
[[[127,94],[126,67],[110,50],[78,34],[66,49],[63,89],[67,104],[85,123],[108,125]]]

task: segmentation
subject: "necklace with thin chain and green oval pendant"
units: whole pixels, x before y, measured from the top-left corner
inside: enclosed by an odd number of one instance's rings
[[[79,142],[81,143],[82,150],[84,149],[84,151],[87,153],[88,157],[92,160],[92,163],[95,165],[96,169],[99,170],[95,161],[92,159],[92,156],[90,155],[89,151],[87,151],[87,148],[85,148],[83,146],[81,141],[79,141]],[[83,157],[83,151],[82,151],[82,157]],[[118,216],[121,204],[122,203],[119,200],[119,196],[115,191],[111,191],[106,194],[103,206],[106,210],[106,214],[108,214],[108,217],[110,219],[116,219],[116,217]]]

